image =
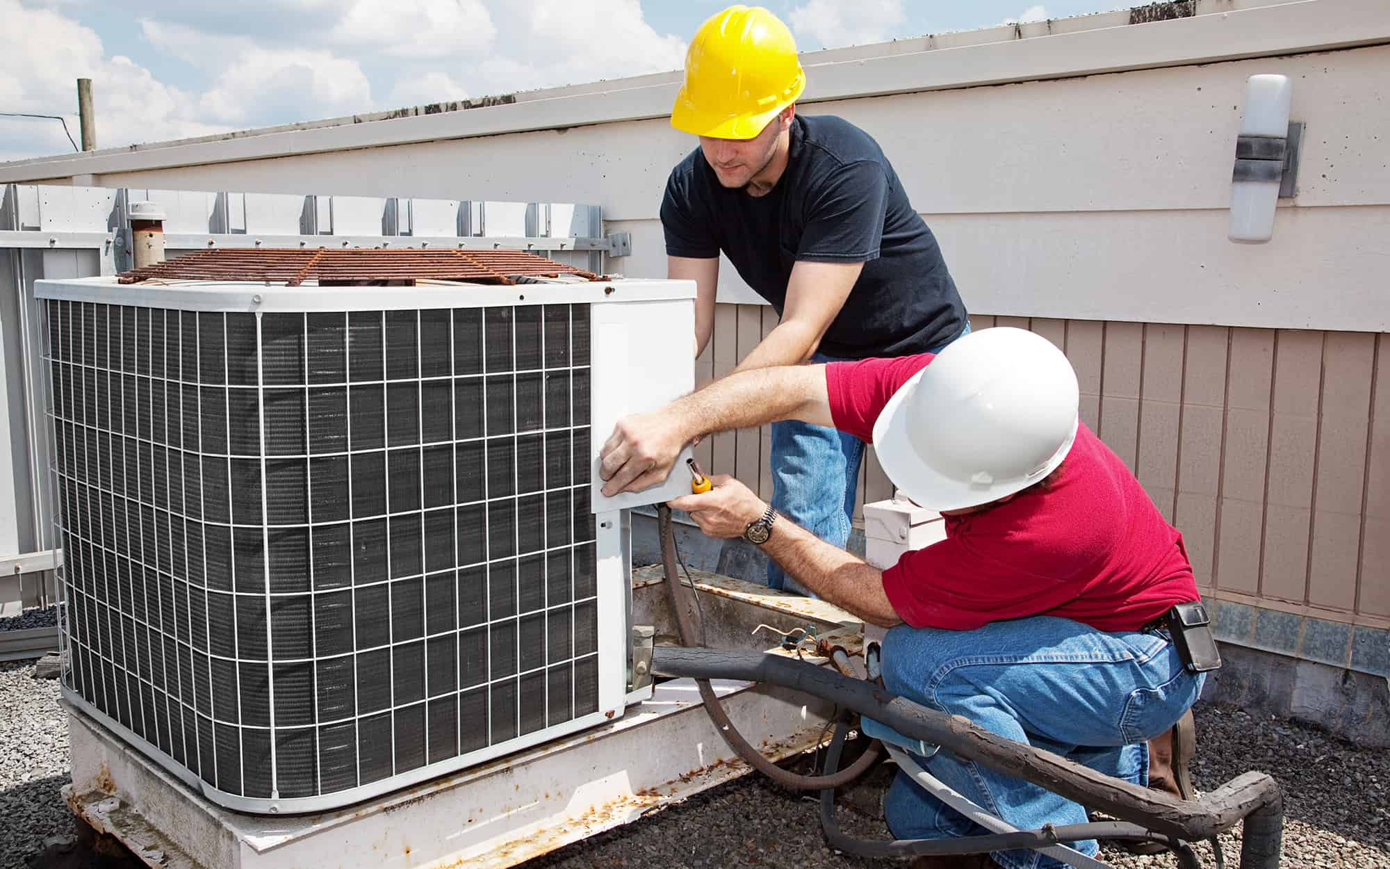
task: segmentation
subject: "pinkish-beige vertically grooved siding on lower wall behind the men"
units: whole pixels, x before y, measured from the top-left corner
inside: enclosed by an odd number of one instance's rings
[[[1369,332],[973,314],[1061,346],[1081,419],[1176,524],[1204,594],[1390,626],[1390,362]],[[728,373],[774,325],[719,304],[699,377]],[[771,494],[766,428],[698,448],[710,473]],[[859,505],[892,496],[869,450]],[[862,516],[855,510],[855,520]]]

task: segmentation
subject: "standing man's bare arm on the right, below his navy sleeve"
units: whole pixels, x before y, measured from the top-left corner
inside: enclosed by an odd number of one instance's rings
[[[820,346],[820,339],[826,336],[826,330],[845,306],[845,299],[855,288],[863,267],[863,263],[809,261],[792,266],[781,323],[734,370],[796,366],[810,359]],[[713,317],[713,304],[710,316]],[[699,323],[698,307],[696,323]]]

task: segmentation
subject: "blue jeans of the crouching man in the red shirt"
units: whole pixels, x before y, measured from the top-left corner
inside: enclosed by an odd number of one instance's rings
[[[963,715],[986,730],[1148,784],[1148,740],[1170,729],[1201,694],[1163,633],[1113,633],[1033,616],[972,631],[888,631],[883,679],[894,694]],[[1015,827],[1086,823],[1086,809],[1036,784],[941,749],[920,759],[935,777]],[[973,836],[962,818],[899,772],[884,801],[898,838]],[[1094,840],[1073,843],[1094,855]],[[1036,851],[997,851],[1005,869],[1062,866]]]

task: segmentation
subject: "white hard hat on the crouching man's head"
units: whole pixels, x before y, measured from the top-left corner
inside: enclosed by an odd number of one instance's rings
[[[948,345],[873,428],[878,462],[933,510],[998,501],[1042,480],[1076,441],[1076,371],[1041,335],[998,327]]]

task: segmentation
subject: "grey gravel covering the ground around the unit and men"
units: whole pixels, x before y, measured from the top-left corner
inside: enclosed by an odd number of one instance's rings
[[[19,869],[49,836],[72,831],[58,788],[67,781],[68,740],[58,706],[58,684],[31,679],[33,665],[0,665],[0,869]],[[1357,748],[1312,727],[1258,719],[1232,708],[1197,710],[1198,756],[1194,780],[1212,788],[1259,769],[1284,787],[1284,861],[1290,869],[1390,869],[1390,749]],[[860,811],[840,809],[844,829],[884,836],[873,818],[880,770],[849,799]],[[1226,836],[1232,869],[1240,843]],[[1200,848],[1211,862],[1211,850]],[[1131,856],[1106,850],[1116,868],[1176,866],[1170,855]],[[46,863],[51,865],[51,863]],[[114,868],[90,855],[68,855],[64,866]],[[788,866],[878,869],[872,862],[831,852],[823,843],[819,808],[756,774],[744,776],[626,827],[569,845],[527,863],[528,869],[723,869]]]

